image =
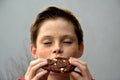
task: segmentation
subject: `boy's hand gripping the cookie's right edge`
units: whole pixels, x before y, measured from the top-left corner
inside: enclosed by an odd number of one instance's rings
[[[85,62],[73,57],[71,57],[69,61],[80,70],[80,72],[72,71],[70,73],[71,80],[92,80],[92,76]]]

